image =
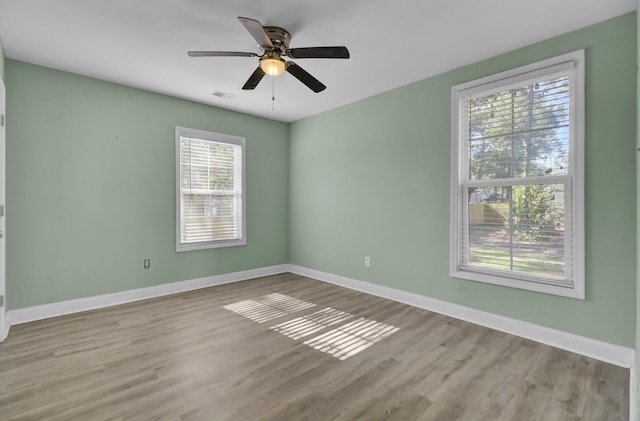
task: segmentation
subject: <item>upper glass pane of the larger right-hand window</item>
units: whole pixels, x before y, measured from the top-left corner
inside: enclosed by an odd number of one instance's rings
[[[568,76],[471,98],[467,106],[471,180],[567,174]]]

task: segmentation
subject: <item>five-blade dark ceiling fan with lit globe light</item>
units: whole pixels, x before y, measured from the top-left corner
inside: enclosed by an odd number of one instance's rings
[[[238,20],[258,42],[263,54],[242,51],[189,51],[190,57],[260,57],[258,68],[249,77],[242,89],[251,90],[258,86],[265,74],[278,76],[285,70],[313,92],[322,92],[327,87],[306,70],[292,61],[285,61],[282,56],[290,58],[349,58],[347,47],[306,47],[289,48],[291,35],[277,26],[262,26],[250,18],[238,17]]]

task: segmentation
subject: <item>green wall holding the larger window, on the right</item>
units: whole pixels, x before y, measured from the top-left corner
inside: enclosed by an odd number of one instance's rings
[[[586,300],[449,277],[451,87],[581,48]],[[632,13],[295,122],[290,261],[634,348],[635,92]]]

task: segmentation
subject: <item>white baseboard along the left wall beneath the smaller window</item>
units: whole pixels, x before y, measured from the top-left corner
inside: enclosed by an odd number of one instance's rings
[[[194,289],[207,288],[215,285],[244,281],[259,278],[261,276],[276,275],[289,271],[289,265],[269,266],[265,268],[245,270],[241,272],[227,273],[223,275],[207,276],[205,278],[190,279],[187,281],[173,282],[170,284],[156,285],[148,288],[132,289],[129,291],[115,292],[112,294],[98,295],[94,297],[78,298],[76,300],[61,301],[51,304],[20,308],[7,311],[7,324],[17,325],[35,320],[48,319],[64,314],[78,313],[97,308],[110,307],[132,301],[145,300],[163,295],[192,291]],[[8,329],[7,329],[8,331]]]

